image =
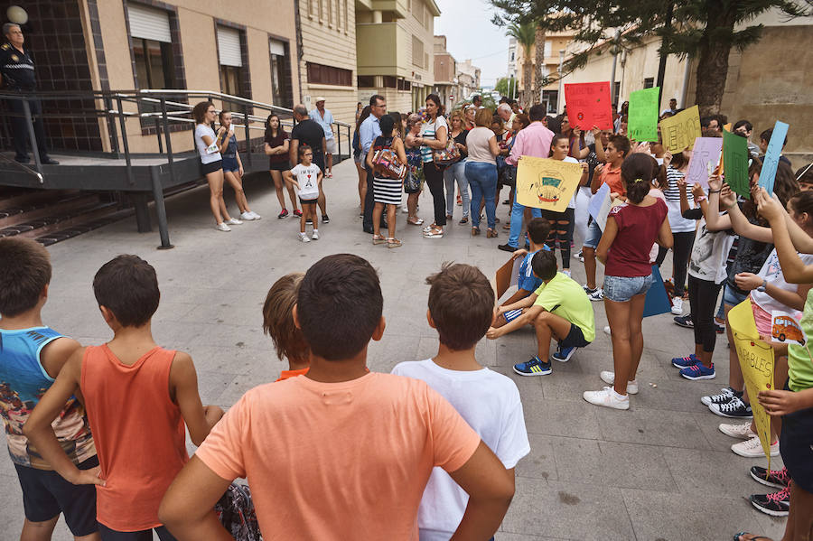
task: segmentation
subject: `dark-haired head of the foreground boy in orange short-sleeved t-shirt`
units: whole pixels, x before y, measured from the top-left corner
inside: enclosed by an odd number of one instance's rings
[[[305,273],[296,296],[296,322],[313,355],[351,359],[373,338],[383,307],[378,275],[369,261],[334,254]]]

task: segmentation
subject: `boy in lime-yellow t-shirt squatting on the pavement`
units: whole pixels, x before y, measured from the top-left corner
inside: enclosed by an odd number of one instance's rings
[[[544,284],[518,303],[500,306],[498,315],[503,319],[497,321],[505,323],[491,327],[486,336],[494,340],[524,325],[533,325],[537,331],[537,355],[528,362],[514,365],[514,371],[520,376],[545,376],[551,372],[547,360],[551,338],[558,341],[558,347],[550,359],[567,362],[575,350],[590,345],[595,339],[595,320],[593,305],[582,286],[556,272],[553,252],[537,252],[531,265],[534,275]]]

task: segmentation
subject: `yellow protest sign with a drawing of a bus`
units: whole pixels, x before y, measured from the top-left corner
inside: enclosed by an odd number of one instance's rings
[[[517,202],[564,212],[581,179],[582,166],[578,163],[521,156],[517,165]]]

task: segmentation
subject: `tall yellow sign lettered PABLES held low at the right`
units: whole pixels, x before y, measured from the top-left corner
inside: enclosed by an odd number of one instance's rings
[[[773,388],[773,348],[760,340],[753,321],[751,300],[745,299],[728,312],[728,324],[734,334],[734,346],[743,369],[745,388],[751,400],[756,433],[760,436],[762,451],[768,457],[771,469],[771,416],[765,411],[757,396],[763,389]]]

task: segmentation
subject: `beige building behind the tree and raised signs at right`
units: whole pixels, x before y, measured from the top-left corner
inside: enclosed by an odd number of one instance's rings
[[[809,91],[813,55],[799,54],[789,61],[788,43],[796,51],[813,49],[813,17],[786,22],[780,14],[769,12],[750,23],[764,25],[762,39],[742,52],[731,51],[721,110],[731,122],[749,120],[754,143],[776,120],[789,123],[784,154],[800,167],[813,157],[813,92]],[[591,56],[584,69],[565,77],[565,83],[610,80],[609,46],[605,43],[603,54]],[[652,38],[618,55],[616,103],[629,100],[634,90],[655,86],[658,47],[659,40]],[[669,98],[677,98],[678,107],[695,103],[696,69],[696,58],[668,57],[660,109],[668,107]]]

